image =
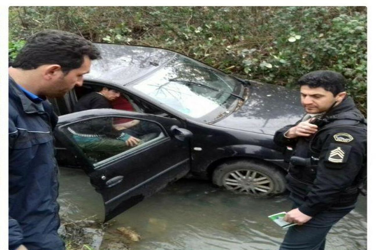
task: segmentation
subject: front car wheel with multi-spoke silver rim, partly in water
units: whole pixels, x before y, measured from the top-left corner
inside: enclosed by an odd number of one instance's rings
[[[223,163],[213,173],[214,185],[254,197],[280,195],[286,190],[285,175],[273,166],[253,160]]]

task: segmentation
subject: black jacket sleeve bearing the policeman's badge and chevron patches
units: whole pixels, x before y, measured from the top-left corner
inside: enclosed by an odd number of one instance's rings
[[[343,142],[338,139],[341,135],[352,140]],[[315,148],[320,148],[316,178],[306,201],[299,207],[302,213],[315,216],[351,196],[350,202],[355,203],[358,190],[354,182],[365,161],[366,145],[366,132],[355,127],[337,127],[322,132],[314,144]]]

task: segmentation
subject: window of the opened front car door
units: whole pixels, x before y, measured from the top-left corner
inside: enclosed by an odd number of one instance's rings
[[[71,123],[62,132],[82,151],[94,167],[166,136],[161,127],[146,120],[127,117],[99,117]]]

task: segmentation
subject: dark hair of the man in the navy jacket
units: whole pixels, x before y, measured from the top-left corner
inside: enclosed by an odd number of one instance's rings
[[[12,67],[28,70],[59,64],[67,74],[82,65],[85,55],[91,60],[100,58],[98,49],[85,38],[67,31],[44,30],[27,39]]]

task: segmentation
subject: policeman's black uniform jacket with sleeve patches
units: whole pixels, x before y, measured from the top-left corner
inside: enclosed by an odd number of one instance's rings
[[[314,216],[328,208],[354,205],[357,185],[364,176],[367,160],[367,125],[364,116],[350,97],[335,106],[326,116],[326,124],[312,136],[289,139],[283,127],[274,142],[293,148],[293,155],[311,158],[306,166],[290,163],[286,177],[290,197],[299,210]]]

